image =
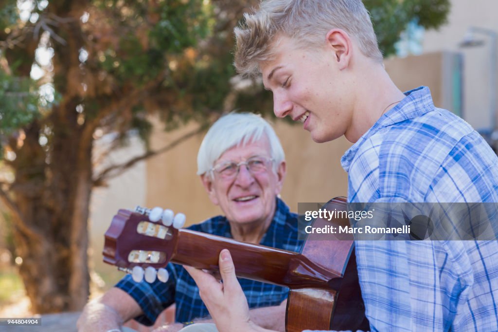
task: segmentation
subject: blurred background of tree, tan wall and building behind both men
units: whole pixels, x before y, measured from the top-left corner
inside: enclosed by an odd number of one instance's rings
[[[364,2],[394,82],[429,86],[497,151],[498,3]],[[232,110],[274,124],[292,210],[347,194],[351,144],[313,143],[235,73],[232,30],[256,4],[0,1],[0,318],[78,313],[112,287],[123,274],[101,252],[119,208],[171,208],[188,224],[219,214],[196,156]]]

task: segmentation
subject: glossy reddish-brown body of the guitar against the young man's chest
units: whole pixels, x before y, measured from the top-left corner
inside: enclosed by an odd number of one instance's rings
[[[346,199],[333,198],[324,208],[331,211],[346,210]],[[312,226],[322,228],[347,225],[347,218],[331,221],[317,218]],[[353,237],[348,240],[323,240],[323,237],[322,234],[308,234],[301,253],[318,266],[342,277],[331,280],[330,289],[290,289],[285,317],[286,330],[370,331],[358,281]]]

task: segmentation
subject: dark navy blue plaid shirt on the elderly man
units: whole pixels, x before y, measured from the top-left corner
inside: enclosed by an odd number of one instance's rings
[[[216,216],[188,229],[232,238],[230,224],[224,216]],[[301,241],[297,238],[297,215],[291,213],[285,203],[277,198],[276,211],[261,245],[299,252]],[[169,280],[166,283],[145,281],[135,283],[126,275],[116,287],[131,295],[143,311],[135,320],[150,326],[167,307],[176,304],[176,321],[185,323],[209,315],[199,296],[199,288],[181,265],[168,264]],[[239,279],[248,299],[249,308],[279,305],[287,298],[288,288]]]

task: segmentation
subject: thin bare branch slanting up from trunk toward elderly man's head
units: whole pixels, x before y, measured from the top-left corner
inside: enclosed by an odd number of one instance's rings
[[[137,156],[135,158],[132,158],[130,159],[129,161],[127,161],[126,163],[124,164],[121,164],[121,165],[113,165],[113,166],[109,166],[107,167],[106,169],[104,169],[103,171],[101,171],[99,173],[99,175],[97,175],[94,180],[93,180],[93,186],[97,187],[97,186],[101,186],[103,185],[103,183],[111,178],[114,178],[118,175],[121,175],[124,173],[124,171],[132,166],[134,166],[136,163],[138,162],[141,162],[143,160],[146,160],[147,158],[150,158],[152,156],[156,156],[156,155],[159,155],[159,154],[162,154],[164,152],[167,152],[171,149],[173,149],[174,147],[176,147],[177,145],[179,145],[180,143],[182,143],[183,141],[191,138],[192,136],[195,136],[201,132],[203,132],[204,130],[206,130],[207,126],[206,125],[201,125],[199,126],[197,129],[179,137],[178,139],[174,140],[173,142],[171,142],[170,144],[156,150],[156,151],[148,151],[146,153],[144,153],[143,155],[141,156]]]

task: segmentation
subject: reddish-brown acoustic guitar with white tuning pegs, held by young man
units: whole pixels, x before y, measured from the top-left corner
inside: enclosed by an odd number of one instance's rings
[[[344,197],[323,208],[346,210]],[[346,226],[349,220],[317,218],[313,227]],[[131,272],[135,266],[159,269],[169,262],[218,270],[222,249],[229,249],[238,277],[289,288],[286,331],[369,331],[358,283],[354,241],[314,240],[308,234],[301,252],[255,245],[150,221],[147,214],[121,209],[105,234],[104,262]],[[323,236],[322,236],[323,238]]]

